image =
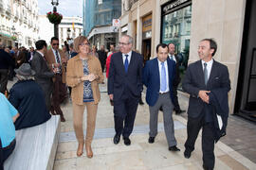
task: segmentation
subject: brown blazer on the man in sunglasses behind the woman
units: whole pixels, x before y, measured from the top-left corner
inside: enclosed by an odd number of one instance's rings
[[[60,54],[61,59],[62,59],[63,83],[65,83],[65,81],[66,81],[65,80],[65,77],[66,77],[66,70],[65,70],[66,63],[63,62],[63,60],[65,59],[65,56],[64,56],[64,52],[60,49],[59,49],[59,54]],[[51,65],[53,63],[57,63],[51,48],[49,50],[47,50],[47,52],[46,52],[46,61],[47,61],[47,64],[48,64],[49,68],[51,68],[51,69],[52,69]]]

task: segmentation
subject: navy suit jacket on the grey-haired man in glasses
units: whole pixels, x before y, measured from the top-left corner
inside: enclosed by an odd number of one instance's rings
[[[140,97],[142,91],[143,58],[132,51],[128,72],[125,73],[121,52],[111,57],[108,75],[108,94],[114,94],[114,101],[119,100],[125,92],[131,93],[135,98]]]

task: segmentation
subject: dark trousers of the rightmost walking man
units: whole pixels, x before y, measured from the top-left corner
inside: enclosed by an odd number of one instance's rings
[[[185,148],[190,152],[193,151],[198,132],[202,127],[203,163],[206,167],[213,169],[215,163],[213,122],[206,122],[202,115],[197,118],[189,117]]]

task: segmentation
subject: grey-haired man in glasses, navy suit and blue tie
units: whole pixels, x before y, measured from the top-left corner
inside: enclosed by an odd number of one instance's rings
[[[110,61],[108,94],[110,100],[114,101],[114,144],[119,144],[121,134],[124,144],[131,144],[129,136],[133,131],[142,91],[143,59],[132,51],[132,46],[133,38],[122,36],[119,41],[120,52],[114,53]]]

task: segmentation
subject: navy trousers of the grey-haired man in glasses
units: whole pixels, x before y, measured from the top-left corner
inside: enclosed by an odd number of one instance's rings
[[[114,122],[117,135],[128,138],[134,128],[138,99],[124,94],[120,100],[114,101]]]

